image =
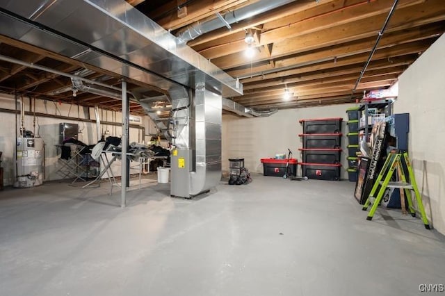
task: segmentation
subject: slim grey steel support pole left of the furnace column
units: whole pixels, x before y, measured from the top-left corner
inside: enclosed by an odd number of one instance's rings
[[[127,205],[127,142],[128,142],[128,108],[129,104],[127,98],[127,81],[122,80],[122,175],[120,183],[120,207],[124,208]]]

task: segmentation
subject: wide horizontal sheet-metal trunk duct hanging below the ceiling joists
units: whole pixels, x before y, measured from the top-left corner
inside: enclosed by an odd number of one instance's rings
[[[162,90],[243,92],[223,70],[123,0],[0,0],[0,34]]]

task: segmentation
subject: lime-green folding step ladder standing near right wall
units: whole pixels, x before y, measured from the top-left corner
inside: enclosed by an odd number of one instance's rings
[[[410,182],[407,181],[405,176],[405,170],[403,168],[407,169],[408,176]],[[398,174],[400,176],[398,182],[391,182],[391,177],[394,174],[395,170],[398,170]],[[382,181],[383,180],[383,181]],[[380,186],[380,190],[378,190]],[[416,197],[417,206],[419,206],[419,213],[421,215],[421,220],[423,224],[425,224],[426,229],[430,229],[430,224],[428,223],[428,218],[426,217],[425,208],[423,208],[421,195],[419,192],[419,188],[417,188],[416,179],[414,177],[414,172],[412,170],[410,161],[408,159],[407,152],[397,152],[397,153],[391,153],[387,157],[387,160],[385,161],[385,164],[382,167],[382,170],[377,176],[377,179],[375,179],[375,183],[373,188],[371,189],[371,192],[369,193],[368,199],[366,199],[366,202],[362,208],[363,211],[366,211],[368,209],[369,204],[372,204],[371,211],[368,213],[368,217],[366,217],[366,220],[372,220],[373,215],[375,211],[377,210],[378,205],[380,204],[380,201],[382,200],[383,195],[385,194],[385,191],[387,188],[400,188],[401,190],[401,204],[402,204],[402,210],[405,211],[405,197],[403,195],[403,192],[405,192],[405,195],[407,197],[408,202],[408,208],[410,210],[410,213],[412,217],[416,217],[416,209],[414,208],[412,204],[411,199],[411,190],[414,191],[414,196]],[[377,192],[377,196],[375,197],[375,193]],[[403,202],[402,202],[403,199]]]

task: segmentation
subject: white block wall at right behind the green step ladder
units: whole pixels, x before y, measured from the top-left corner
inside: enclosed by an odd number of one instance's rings
[[[399,78],[394,113],[410,113],[409,151],[437,231],[445,234],[445,35]]]

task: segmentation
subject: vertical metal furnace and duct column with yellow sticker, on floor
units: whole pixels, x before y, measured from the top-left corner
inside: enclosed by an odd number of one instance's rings
[[[204,83],[191,94],[172,97],[174,143],[171,195],[193,197],[209,191],[221,178],[221,95]]]

